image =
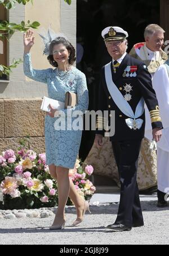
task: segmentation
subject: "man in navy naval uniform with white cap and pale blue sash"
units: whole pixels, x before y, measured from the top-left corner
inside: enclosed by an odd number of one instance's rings
[[[145,104],[152,121],[153,136],[158,142],[162,136],[162,122],[158,101],[152,87],[152,78],[146,65],[127,53],[128,33],[119,27],[108,27],[102,32],[112,62],[101,70],[98,110],[115,111],[115,134],[110,137],[121,179],[121,200],[113,231],[131,231],[144,225],[139,189],[137,163],[145,132]],[[95,143],[103,146],[105,117],[98,116]],[[106,133],[107,134],[107,133]]]

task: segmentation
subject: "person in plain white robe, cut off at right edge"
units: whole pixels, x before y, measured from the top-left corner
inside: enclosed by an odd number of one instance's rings
[[[154,74],[153,88],[157,94],[163,121],[163,135],[157,143],[158,207],[167,207],[169,194],[169,60]],[[149,112],[146,112],[145,136],[152,139]]]

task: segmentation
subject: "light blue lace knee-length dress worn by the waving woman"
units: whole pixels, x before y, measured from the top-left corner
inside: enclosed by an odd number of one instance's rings
[[[56,75],[56,70],[35,70],[32,68],[31,55],[24,54],[24,73],[29,78],[46,83],[48,88],[48,97],[54,100],[65,102],[65,93],[70,91],[77,93],[78,105],[72,109],[72,112],[79,110],[85,112],[88,109],[88,90],[86,76],[75,67],[69,71],[68,82],[64,83]],[[65,122],[68,119],[67,109],[65,113]],[[81,130],[56,130],[55,121],[57,118],[46,116],[45,118],[45,144],[47,165],[54,164],[57,167],[73,169],[78,156],[81,144]],[[74,118],[72,119],[72,123]]]

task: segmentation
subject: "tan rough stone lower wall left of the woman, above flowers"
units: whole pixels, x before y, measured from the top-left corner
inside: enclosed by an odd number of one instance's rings
[[[38,153],[45,152],[42,99],[0,100],[0,152],[17,150],[20,139],[30,136],[30,148]]]

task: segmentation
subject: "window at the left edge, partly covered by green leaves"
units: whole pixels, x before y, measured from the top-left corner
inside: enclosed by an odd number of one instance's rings
[[[3,5],[0,5],[0,22],[6,20],[7,12]],[[0,31],[0,33],[3,33]],[[0,37],[0,64],[7,65],[7,40]],[[1,80],[7,79],[6,76],[0,77]]]

